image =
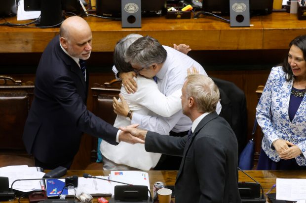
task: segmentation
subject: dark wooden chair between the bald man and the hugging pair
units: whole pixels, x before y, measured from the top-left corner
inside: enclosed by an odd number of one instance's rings
[[[91,87],[93,97],[92,113],[112,125],[117,116],[113,110],[113,97],[118,98],[120,87],[121,81],[116,79],[111,82],[106,82],[104,85],[94,84],[94,87]],[[98,139],[94,137],[92,139],[90,157],[92,163],[86,167],[86,170],[103,170],[103,164],[96,163]]]

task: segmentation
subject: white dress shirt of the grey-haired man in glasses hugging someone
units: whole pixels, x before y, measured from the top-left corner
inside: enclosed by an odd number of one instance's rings
[[[163,46],[167,51],[167,58],[156,74],[157,86],[164,95],[171,95],[174,91],[182,89],[188,68],[195,67],[199,74],[207,75],[204,68],[195,60],[171,47]],[[181,99],[179,99],[181,102]],[[217,113],[221,112],[221,104],[218,102]],[[183,115],[182,111],[170,117],[150,116],[134,113],[132,124],[138,123],[143,128],[161,132],[160,134],[169,135],[169,132],[184,132],[191,127],[191,119]]]

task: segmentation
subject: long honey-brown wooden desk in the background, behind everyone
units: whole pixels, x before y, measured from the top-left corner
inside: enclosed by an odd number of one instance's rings
[[[228,17],[229,18],[229,17]],[[10,23],[27,23],[16,17],[6,18]],[[260,50],[287,49],[296,36],[306,33],[305,21],[296,14],[272,13],[251,18],[249,28],[230,28],[228,23],[210,16],[198,19],[142,18],[142,28],[122,29],[121,21],[88,17],[85,20],[93,31],[93,51],[113,52],[115,43],[130,33],[151,35],[160,43],[188,43],[192,50]],[[58,34],[59,28],[0,27],[0,53],[42,52],[47,43]]]

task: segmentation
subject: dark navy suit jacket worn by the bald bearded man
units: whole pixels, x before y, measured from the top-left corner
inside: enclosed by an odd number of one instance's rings
[[[55,36],[36,72],[35,99],[23,133],[28,153],[48,164],[71,161],[83,132],[115,144],[118,129],[86,109],[87,89],[76,61],[65,54]]]

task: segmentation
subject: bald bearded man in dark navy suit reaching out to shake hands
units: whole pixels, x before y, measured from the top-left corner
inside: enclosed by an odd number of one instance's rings
[[[116,145],[135,143],[133,136],[113,127],[86,108],[92,33],[77,16],[67,18],[60,34],[47,45],[35,80],[35,99],[27,118],[23,141],[35,165],[44,169],[70,168],[82,133]]]

